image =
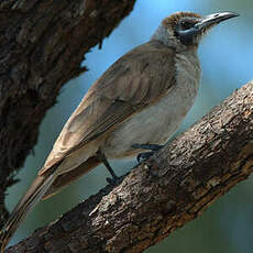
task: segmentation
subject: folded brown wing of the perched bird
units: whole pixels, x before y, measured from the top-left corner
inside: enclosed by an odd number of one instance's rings
[[[174,57],[172,48],[151,41],[117,61],[74,111],[40,175],[165,96],[175,84]]]

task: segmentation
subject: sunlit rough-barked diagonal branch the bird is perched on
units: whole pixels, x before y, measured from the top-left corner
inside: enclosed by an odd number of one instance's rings
[[[253,81],[109,186],[8,252],[142,252],[253,172]]]

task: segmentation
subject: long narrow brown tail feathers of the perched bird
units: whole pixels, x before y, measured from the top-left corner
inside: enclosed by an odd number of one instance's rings
[[[56,175],[54,173],[50,176],[37,176],[37,178],[25,193],[23,198],[19,201],[1,231],[1,253],[4,252],[7,244],[9,243],[10,239],[12,238],[13,233],[15,232],[22,220],[51,187],[55,177]]]

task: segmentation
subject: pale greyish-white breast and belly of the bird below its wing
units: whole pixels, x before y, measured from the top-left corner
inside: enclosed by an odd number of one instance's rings
[[[200,78],[197,55],[177,55],[176,69],[176,85],[165,97],[109,134],[103,147],[108,158],[135,155],[140,151],[133,150],[133,144],[163,144],[175,133],[197,96]]]

